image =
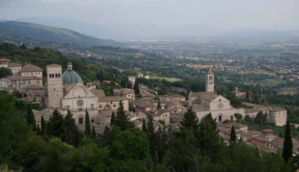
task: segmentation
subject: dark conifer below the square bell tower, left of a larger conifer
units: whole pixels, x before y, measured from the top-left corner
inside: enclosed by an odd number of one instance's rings
[[[61,115],[56,108],[53,111],[53,114],[50,117],[49,121],[46,123],[46,134],[60,138],[60,134],[63,133],[63,130],[61,128],[62,124],[63,115]]]

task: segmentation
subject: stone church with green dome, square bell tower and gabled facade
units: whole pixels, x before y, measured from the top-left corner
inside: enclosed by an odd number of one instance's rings
[[[84,123],[85,109],[91,122],[98,116],[98,97],[83,86],[80,76],[73,70],[72,63],[67,64],[67,71],[62,73],[59,64],[47,65],[48,108],[70,110],[76,124]]]

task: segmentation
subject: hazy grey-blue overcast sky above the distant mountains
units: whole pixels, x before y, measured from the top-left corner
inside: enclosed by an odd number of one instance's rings
[[[28,17],[104,26],[299,30],[299,0],[0,0],[0,19]]]

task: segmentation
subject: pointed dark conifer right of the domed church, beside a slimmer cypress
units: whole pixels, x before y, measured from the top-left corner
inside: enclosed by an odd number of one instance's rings
[[[115,117],[115,124],[119,126],[122,131],[134,127],[134,123],[132,123],[128,119],[127,115],[125,115],[124,103],[122,101],[119,103],[119,108],[117,108],[116,114],[117,116]]]

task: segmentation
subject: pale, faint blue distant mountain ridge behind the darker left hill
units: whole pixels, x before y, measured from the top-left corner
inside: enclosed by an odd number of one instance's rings
[[[72,19],[64,19],[64,18],[30,17],[25,19],[18,19],[15,21],[70,29],[82,34],[91,35],[102,39],[118,38],[124,35],[124,33],[121,33],[120,31],[116,31],[115,29],[105,27],[100,24],[84,22],[80,20],[72,20]]]

